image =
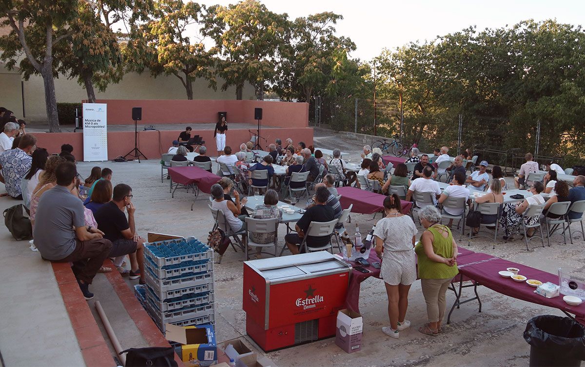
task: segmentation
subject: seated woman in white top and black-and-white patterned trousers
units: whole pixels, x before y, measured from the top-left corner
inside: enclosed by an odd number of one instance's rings
[[[504,240],[513,240],[514,234],[518,233],[518,224],[522,220],[522,213],[528,209],[529,205],[541,205],[545,203],[545,199],[542,197],[545,186],[540,181],[532,183],[528,189],[533,195],[526,197],[522,203],[513,202],[505,203],[502,209],[502,216],[500,217],[500,224],[504,228]],[[530,226],[535,224],[539,220],[539,216],[530,216],[524,218],[524,224]],[[534,228],[529,228],[527,231],[528,237],[532,237]]]

